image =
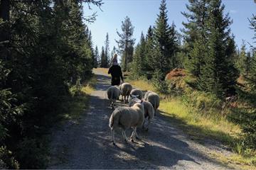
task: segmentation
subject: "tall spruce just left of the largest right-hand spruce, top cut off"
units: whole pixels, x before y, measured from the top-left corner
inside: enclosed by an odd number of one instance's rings
[[[208,4],[210,0],[189,0],[189,5],[186,5],[189,13],[183,12],[188,20],[188,23],[182,23],[185,27],[184,33],[185,48],[187,54],[186,69],[195,77],[201,76],[203,60],[206,58],[206,42],[207,32],[206,23],[208,20]]]

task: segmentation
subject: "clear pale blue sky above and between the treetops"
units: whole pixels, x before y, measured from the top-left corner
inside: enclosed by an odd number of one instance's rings
[[[136,44],[139,42],[142,32],[146,35],[149,26],[154,26],[161,0],[103,0],[104,4],[101,9],[91,6],[89,10],[87,5],[84,6],[84,16],[88,16],[97,11],[97,18],[94,23],[85,23],[92,32],[92,42],[94,47],[97,45],[99,51],[106,39],[107,33],[110,38],[110,52],[112,48],[117,47],[115,40],[119,40],[117,31],[121,31],[122,21],[128,16],[134,26],[134,38]],[[174,22],[176,30],[181,32],[182,22],[186,18],[181,11],[187,11],[186,4],[188,0],[166,0],[169,25]],[[252,44],[253,30],[249,27],[248,18],[252,13],[256,15],[256,4],[254,0],[223,0],[225,4],[225,13],[230,14],[233,24],[230,26],[231,33],[235,35],[235,42],[240,47],[242,40]],[[247,45],[248,46],[248,45]]]

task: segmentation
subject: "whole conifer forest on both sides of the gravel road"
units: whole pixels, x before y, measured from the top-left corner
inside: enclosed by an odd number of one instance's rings
[[[84,17],[83,6],[104,2],[0,1],[1,169],[47,167],[48,130],[74,96],[70,89],[91,81],[93,68],[110,67],[115,53],[128,79],[150,82],[165,98],[238,125],[227,145],[256,165],[256,45],[236,47],[221,0],[189,0],[188,12],[179,14],[187,21],[181,32],[169,25],[161,0],[155,23],[136,45],[136,26],[126,16],[112,52],[108,33],[105,46],[93,44],[87,24],[97,15]],[[256,13],[248,20],[255,39]],[[176,71],[186,77],[168,79]]]

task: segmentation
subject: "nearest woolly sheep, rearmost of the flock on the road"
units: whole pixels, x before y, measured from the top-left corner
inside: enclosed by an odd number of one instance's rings
[[[113,145],[115,145],[114,140],[114,130],[117,128],[122,128],[122,136],[124,137],[124,142],[127,142],[127,136],[125,130],[132,128],[132,135],[130,140],[134,142],[134,137],[139,138],[137,135],[137,127],[141,126],[144,122],[144,101],[137,99],[137,103],[132,107],[122,106],[116,108],[112,115],[110,116],[110,130]]]

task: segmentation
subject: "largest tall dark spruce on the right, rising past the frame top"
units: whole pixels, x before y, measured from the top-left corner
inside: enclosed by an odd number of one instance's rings
[[[201,71],[198,84],[201,89],[210,91],[223,98],[235,94],[235,82],[238,70],[235,69],[233,58],[235,46],[230,35],[230,18],[223,16],[225,6],[221,0],[210,1],[208,7],[208,52]]]

